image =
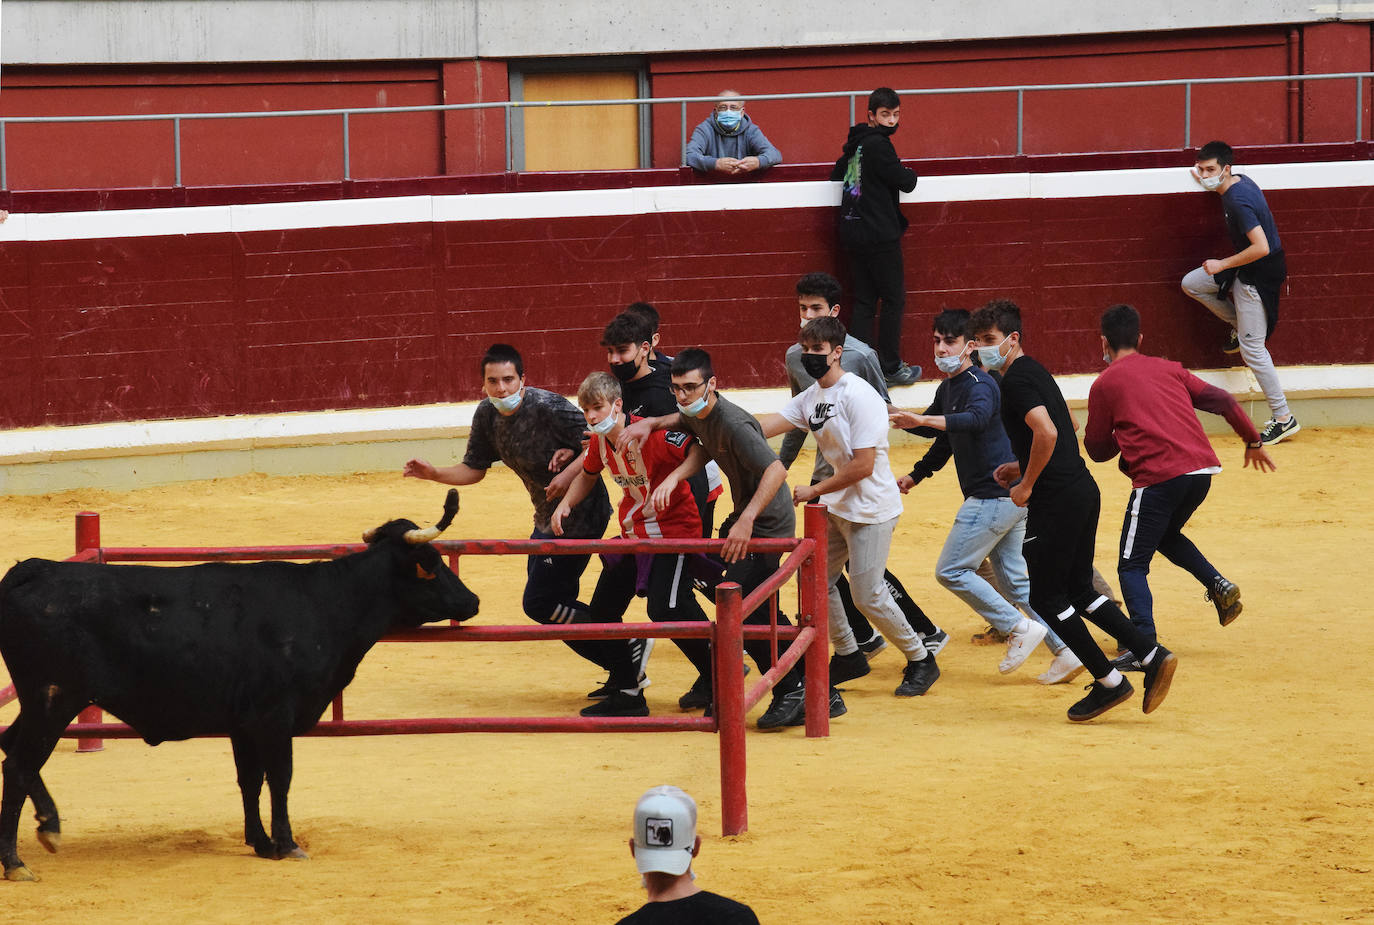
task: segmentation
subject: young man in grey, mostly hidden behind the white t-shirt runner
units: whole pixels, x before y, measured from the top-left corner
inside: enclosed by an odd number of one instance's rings
[[[840,282],[830,274],[807,274],[797,280],[797,308],[801,313],[801,326],[805,327],[807,322],[816,317],[838,317],[841,291]],[[871,385],[883,404],[890,407],[892,400],[888,396],[888,385],[883,382],[882,370],[878,366],[878,355],[874,353],[871,346],[855,338],[848,331],[845,333],[844,348],[844,352],[840,355],[841,368]],[[816,382],[805,370],[801,344],[793,344],[787,348],[783,364],[787,367],[787,385],[791,386],[794,396],[801,394]],[[805,441],[805,427],[793,427],[783,434],[782,452],[778,454],[783,466],[791,469],[791,463],[797,459],[797,454],[801,452]],[[824,455],[818,452],[816,465],[811,471],[811,484],[815,485],[829,478],[833,473],[834,470],[826,462]],[[911,628],[916,631],[916,635],[921,636],[926,649],[932,654],[940,654],[940,650],[949,642],[949,635],[930,623],[930,617],[911,599],[911,595],[907,594],[905,587],[897,580],[897,576],[892,572],[883,572],[882,577],[888,583],[892,599],[897,602],[901,614],[911,624]],[[849,580],[845,576],[840,576],[835,588],[840,591],[840,599],[844,602],[845,618],[849,621],[849,628],[853,631],[855,639],[859,640],[859,649],[864,657],[872,658],[886,649],[888,642],[882,634],[872,628],[863,616],[863,612],[855,606],[853,597],[849,592]]]

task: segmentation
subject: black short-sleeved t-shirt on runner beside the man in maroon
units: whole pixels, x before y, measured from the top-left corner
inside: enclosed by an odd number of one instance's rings
[[[1035,437],[1026,425],[1026,415],[1036,407],[1044,407],[1050,412],[1050,421],[1054,422],[1059,436],[1054,441],[1050,462],[1035,482],[1032,504],[1037,498],[1054,495],[1088,474],[1088,467],[1079,452],[1079,434],[1073,429],[1073,416],[1063,401],[1059,385],[1047,368],[1022,355],[1002,377],[1002,423],[1022,473],[1030,460],[1030,443]]]

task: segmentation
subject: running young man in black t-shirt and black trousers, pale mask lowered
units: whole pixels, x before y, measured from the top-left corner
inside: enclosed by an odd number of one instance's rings
[[[1002,426],[1015,460],[993,477],[1025,507],[1022,554],[1030,573],[1030,606],[1054,617],[1055,632],[1092,673],[1088,695],[1069,708],[1076,723],[1125,702],[1131,682],[1102,654],[1083,620],[1091,620],[1145,667],[1146,713],[1164,701],[1178,657],[1131,625],[1121,609],[1092,588],[1092,551],[1102,495],[1092,481],[1073,430],[1063,393],[1050,371],[1021,349],[1021,309],[1009,300],[988,302],[969,320],[984,368],[1002,372]]]

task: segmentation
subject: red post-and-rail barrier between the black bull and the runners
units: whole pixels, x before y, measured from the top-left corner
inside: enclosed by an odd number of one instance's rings
[[[703,638],[712,642],[716,684],[716,716],[646,716],[646,717],[437,717],[345,720],[344,695],[335,698],[331,717],[320,720],[306,735],[419,735],[436,733],[664,733],[716,731],[720,745],[721,832],[739,834],[747,829],[747,790],[745,785],[745,715],[772,690],[798,660],[805,658],[807,735],[830,734],[830,680],[826,576],[826,509],[808,504],[801,539],[756,539],[749,544],[756,553],[787,553],[778,572],[747,598],[738,584],[719,586],[714,623],[599,623],[578,625],[503,625],[503,627],[419,627],[392,634],[383,642],[444,640],[526,640],[526,639],[643,639]],[[363,544],[331,546],[258,546],[258,547],[102,547],[98,514],[77,514],[77,553],[73,559],[96,562],[205,562],[261,559],[337,558],[365,548]],[[449,540],[436,542],[458,569],[462,555],[587,555],[594,553],[719,553],[721,540]],[[793,575],[798,579],[796,627],[780,627],[776,609],[769,625],[743,625],[745,614],[771,599]],[[745,639],[769,639],[775,664],[745,691]],[[778,643],[790,640],[787,651],[778,656]],[[5,702],[0,691],[0,704]],[[102,723],[99,706],[84,709],[67,727],[67,738],[78,738],[78,752],[96,752],[104,738],[139,738],[128,726]]]

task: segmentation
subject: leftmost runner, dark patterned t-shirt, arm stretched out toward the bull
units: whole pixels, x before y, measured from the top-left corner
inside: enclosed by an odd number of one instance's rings
[[[456,466],[437,467],[423,459],[405,463],[404,474],[444,485],[474,485],[496,462],[506,463],[529,492],[534,506],[530,539],[552,539],[550,515],[558,498],[576,473],[555,481],[581,451],[587,422],[561,394],[526,388],[525,361],[508,344],[493,344],[482,356],[482,389],[486,399],[473,414],[467,452]],[[596,481],[587,498],[573,507],[563,522],[563,536],[600,539],[610,520],[606,487]],[[585,603],[577,599],[587,555],[530,555],[522,606],[536,623],[595,623]],[[633,643],[639,643],[638,646]],[[638,687],[649,647],[643,640],[567,640],[583,658],[606,669],[617,689]]]

